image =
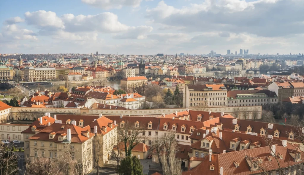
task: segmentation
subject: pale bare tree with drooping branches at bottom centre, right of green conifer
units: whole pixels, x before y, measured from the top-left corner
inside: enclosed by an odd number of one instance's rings
[[[157,156],[164,175],[181,175],[181,160],[176,157],[178,142],[174,131],[166,131],[163,136],[154,139],[151,151]]]

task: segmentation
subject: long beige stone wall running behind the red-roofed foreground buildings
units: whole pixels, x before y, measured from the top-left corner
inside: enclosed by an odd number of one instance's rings
[[[238,118],[243,119],[242,111],[247,108],[250,112],[249,119],[252,118],[252,111],[258,112],[258,118],[261,118],[262,106],[240,106],[240,107],[211,107],[208,111],[224,112],[234,116],[233,108],[238,108]],[[54,114],[74,114],[74,115],[136,115],[136,116],[150,116],[158,117],[162,113],[170,114],[174,112],[185,111],[186,108],[164,108],[164,109],[141,109],[141,110],[115,110],[115,109],[75,109],[75,108],[26,108],[26,107],[12,107],[11,113],[14,120],[35,120],[45,112],[50,112],[51,116]],[[189,108],[195,110],[195,108]]]

